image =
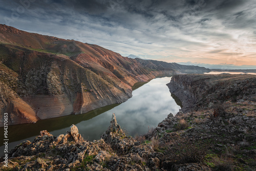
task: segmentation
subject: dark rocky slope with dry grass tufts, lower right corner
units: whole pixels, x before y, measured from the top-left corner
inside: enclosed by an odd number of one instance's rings
[[[166,170],[255,170],[256,102],[226,101],[216,108],[169,114],[145,136],[158,137]]]

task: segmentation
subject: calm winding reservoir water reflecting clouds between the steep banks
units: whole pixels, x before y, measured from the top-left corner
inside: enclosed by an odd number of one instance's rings
[[[69,115],[36,123],[10,125],[8,127],[9,150],[25,140],[31,142],[40,131],[47,130],[54,136],[66,134],[75,124],[86,140],[99,139],[110,125],[112,113],[127,136],[145,134],[148,128],[156,127],[169,113],[176,114],[181,109],[181,101],[169,92],[166,83],[170,77],[155,78],[133,91],[133,97],[121,104],[105,106],[81,115]],[[3,144],[4,128],[0,128]],[[0,147],[0,156],[4,146]]]

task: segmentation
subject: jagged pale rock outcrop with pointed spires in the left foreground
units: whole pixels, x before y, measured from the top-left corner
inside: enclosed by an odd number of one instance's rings
[[[55,137],[41,131],[33,142],[24,141],[9,153],[8,169],[18,170],[156,170],[163,154],[126,137],[113,114],[103,139],[83,140],[75,125]],[[3,159],[1,159],[3,161]],[[2,162],[1,161],[1,162]],[[154,168],[154,169],[153,169]],[[4,162],[0,169],[5,170]]]

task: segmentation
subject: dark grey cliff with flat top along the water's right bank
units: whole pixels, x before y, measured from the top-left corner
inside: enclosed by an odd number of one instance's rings
[[[255,75],[175,75],[167,84],[182,100],[182,110],[207,108],[227,100],[256,101]]]

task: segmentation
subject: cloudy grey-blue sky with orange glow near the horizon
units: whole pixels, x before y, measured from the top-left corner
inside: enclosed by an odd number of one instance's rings
[[[1,24],[96,44],[122,56],[256,69],[255,0],[0,0],[0,4]]]

